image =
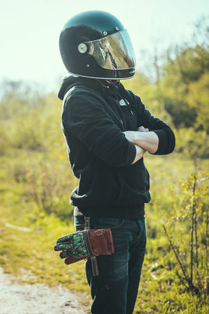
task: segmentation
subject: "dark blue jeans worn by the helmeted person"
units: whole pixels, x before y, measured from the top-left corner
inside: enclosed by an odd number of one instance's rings
[[[91,218],[91,228],[111,227],[115,253],[97,257],[99,276],[94,277],[91,260],[86,278],[91,287],[92,314],[132,314],[137,299],[146,249],[144,218]],[[75,217],[75,229],[84,229],[84,217]]]

